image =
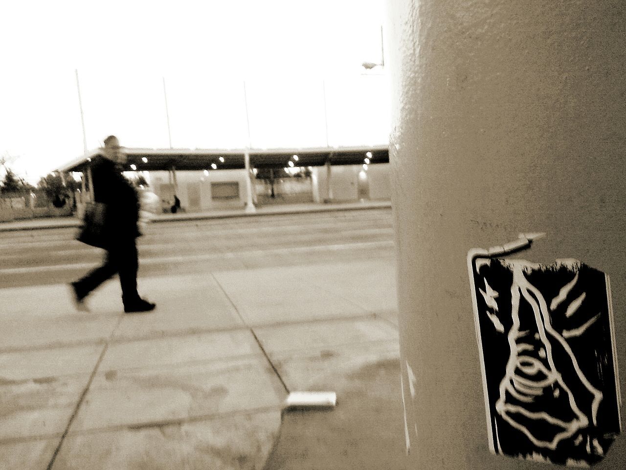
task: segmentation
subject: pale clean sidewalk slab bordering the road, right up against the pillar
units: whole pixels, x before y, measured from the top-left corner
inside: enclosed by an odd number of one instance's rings
[[[347,266],[245,269],[216,273],[215,277],[247,323],[263,325],[395,312],[394,269],[386,260],[374,260]]]

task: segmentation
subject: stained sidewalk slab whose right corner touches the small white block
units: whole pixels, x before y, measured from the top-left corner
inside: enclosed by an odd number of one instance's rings
[[[284,390],[265,359],[108,370],[96,374],[71,432],[144,427],[260,408],[279,409]]]

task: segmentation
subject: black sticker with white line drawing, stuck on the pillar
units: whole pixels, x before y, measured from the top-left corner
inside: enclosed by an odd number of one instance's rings
[[[488,439],[496,454],[589,466],[621,431],[610,283],[575,259],[502,258],[534,237],[468,254]]]

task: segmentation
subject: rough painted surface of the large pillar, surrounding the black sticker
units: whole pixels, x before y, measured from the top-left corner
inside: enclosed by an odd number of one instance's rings
[[[429,470],[560,467],[490,452],[467,256],[545,232],[503,258],[548,265],[574,258],[607,273],[618,384],[626,390],[626,4],[387,6],[410,456],[416,469]],[[487,299],[488,288],[476,287]],[[491,301],[506,295],[511,290]],[[503,303],[496,313],[506,315]],[[622,434],[594,467],[625,461]]]

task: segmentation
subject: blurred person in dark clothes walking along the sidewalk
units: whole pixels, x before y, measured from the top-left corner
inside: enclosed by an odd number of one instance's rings
[[[120,141],[115,135],[105,138],[103,154],[93,159],[93,191],[95,202],[106,204],[105,262],[84,278],[71,283],[76,308],[88,310],[85,298],[107,279],[119,274],[121,300],[125,313],[150,311],[155,304],[143,300],[137,292],[139,268],[136,238],[141,235],[139,221],[139,197],[133,185],[123,177],[126,154],[121,151]]]

